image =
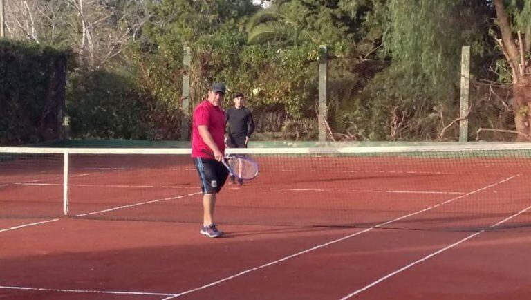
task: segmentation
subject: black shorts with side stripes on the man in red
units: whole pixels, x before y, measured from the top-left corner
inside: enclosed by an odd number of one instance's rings
[[[203,194],[216,194],[225,185],[229,171],[217,160],[212,158],[192,158],[201,181]]]

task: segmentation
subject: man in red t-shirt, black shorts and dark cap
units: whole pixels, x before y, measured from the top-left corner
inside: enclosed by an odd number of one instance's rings
[[[192,159],[203,191],[203,227],[201,234],[217,238],[223,234],[214,223],[216,194],[225,184],[229,171],[223,166],[225,153],[225,113],[220,104],[225,84],[214,83],[208,97],[194,109],[192,123]]]

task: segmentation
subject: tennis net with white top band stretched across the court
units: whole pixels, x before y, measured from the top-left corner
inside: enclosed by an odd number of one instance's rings
[[[0,147],[0,218],[200,223],[190,149]],[[218,223],[476,230],[531,205],[531,144],[250,148]],[[505,223],[504,223],[505,224]],[[529,213],[506,226],[531,224]]]

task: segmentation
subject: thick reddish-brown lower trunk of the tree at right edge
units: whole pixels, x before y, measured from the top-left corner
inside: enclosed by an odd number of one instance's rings
[[[512,86],[514,97],[514,124],[519,134],[516,141],[531,140],[531,75],[519,77]]]

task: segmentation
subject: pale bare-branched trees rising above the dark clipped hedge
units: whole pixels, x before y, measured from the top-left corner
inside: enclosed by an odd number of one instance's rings
[[[72,48],[85,66],[102,68],[120,56],[149,19],[144,0],[12,0],[6,24],[12,39]]]

